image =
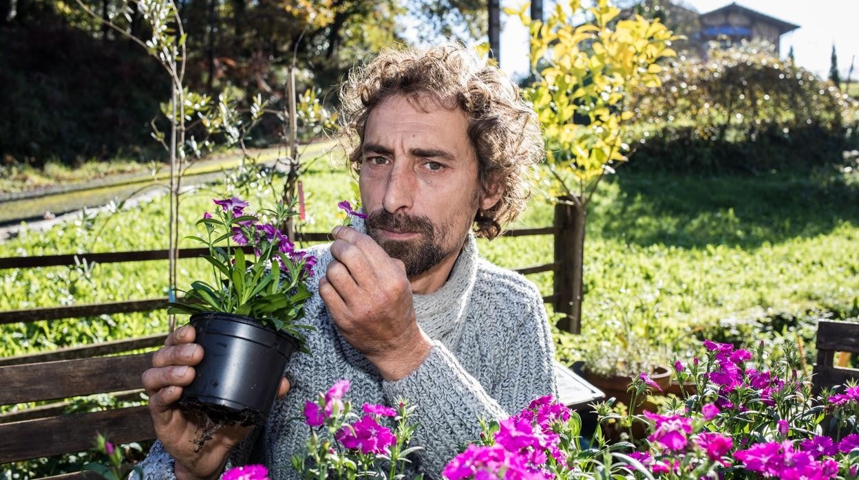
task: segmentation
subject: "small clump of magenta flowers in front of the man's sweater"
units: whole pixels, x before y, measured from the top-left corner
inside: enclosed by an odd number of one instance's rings
[[[358,413],[344,398],[349,388],[349,380],[338,380],[305,403],[310,436],[307,453],[292,458],[295,471],[302,478],[415,478],[408,458],[420,449],[408,447],[415,429],[409,422],[413,407],[363,404]]]

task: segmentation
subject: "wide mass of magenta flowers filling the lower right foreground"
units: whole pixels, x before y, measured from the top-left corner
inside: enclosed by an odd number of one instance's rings
[[[450,480],[857,477],[859,386],[814,398],[794,352],[783,352],[776,365],[763,368],[763,345],[757,355],[727,343],[705,341],[704,347],[705,361],[674,363],[682,398],[670,398],[660,412],[621,414],[611,402],[595,404],[599,426],[584,439],[575,411],[538,398],[508,419],[484,424],[480,440],[451,460],[442,475]],[[656,389],[646,374],[639,375],[630,385],[632,403]],[[636,438],[630,428],[624,441],[610,443],[601,429],[609,421],[639,423],[647,433]]]

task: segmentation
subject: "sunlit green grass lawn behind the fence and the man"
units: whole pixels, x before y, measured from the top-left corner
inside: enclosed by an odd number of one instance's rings
[[[302,228],[327,231],[340,219],[334,204],[355,196],[350,175],[320,162],[303,181],[309,218]],[[185,197],[183,234],[211,209],[210,198],[235,193],[217,185]],[[259,205],[259,198],[271,202],[273,195],[251,197]],[[161,197],[113,218],[25,233],[0,244],[0,256],[164,248],[166,204]],[[551,217],[551,205],[534,197],[515,227],[548,226]],[[859,185],[842,173],[695,178],[621,172],[601,185],[589,210],[585,335],[564,355],[585,355],[583,344],[617,349],[646,335],[670,357],[690,351],[691,333],[724,335],[725,325],[809,313],[859,315],[856,245]],[[509,268],[552,258],[549,235],[481,240],[479,248]],[[201,268],[198,260],[182,260],[180,286]],[[2,310],[147,298],[167,289],[167,265],[159,261],[96,265],[89,276],[68,267],[0,275]],[[551,273],[530,278],[551,294]],[[162,313],[7,325],[3,335],[14,341],[0,355],[165,330]]]

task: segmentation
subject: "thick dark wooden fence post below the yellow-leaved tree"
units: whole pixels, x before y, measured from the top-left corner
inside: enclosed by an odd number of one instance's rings
[[[558,328],[571,333],[582,330],[582,293],[585,222],[587,210],[570,198],[555,204],[555,312],[564,313]]]

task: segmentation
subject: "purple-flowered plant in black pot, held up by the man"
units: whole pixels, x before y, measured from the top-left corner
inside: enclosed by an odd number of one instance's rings
[[[240,198],[214,200],[219,208],[197,222],[206,237],[212,282],[196,280],[168,313],[191,314],[195,342],[204,349],[180,405],[214,425],[259,424],[268,416],[289,357],[303,345],[304,282],[315,258],[295,250],[277,228],[291,206],[245,213]],[[267,220],[268,222],[264,222]]]

